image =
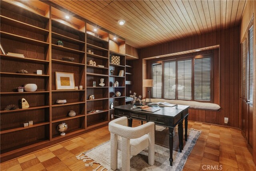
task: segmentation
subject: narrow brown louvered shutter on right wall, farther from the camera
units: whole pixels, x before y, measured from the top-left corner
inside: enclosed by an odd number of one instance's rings
[[[242,43],[242,96],[247,98],[247,55],[246,40]]]

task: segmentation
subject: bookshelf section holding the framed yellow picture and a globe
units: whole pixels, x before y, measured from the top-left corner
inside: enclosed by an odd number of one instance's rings
[[[65,122],[68,130],[65,136],[80,132],[86,128],[86,91],[58,91],[56,89],[56,72],[74,73],[75,86],[86,86],[86,33],[85,22],[52,7],[51,10],[51,47],[52,47],[52,98],[51,98],[51,126],[50,141],[62,139],[56,129],[58,124]],[[58,45],[57,41],[62,41],[63,46]],[[72,57],[73,61],[64,61],[63,57]],[[56,104],[56,100],[66,99],[66,104]],[[69,117],[70,110],[76,112],[76,116]]]

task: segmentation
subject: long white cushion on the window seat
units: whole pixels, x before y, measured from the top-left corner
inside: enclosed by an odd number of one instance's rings
[[[142,101],[145,101],[145,99],[143,99]],[[147,98],[147,102],[148,102],[148,98]],[[170,104],[187,105],[187,106],[190,106],[190,108],[207,109],[207,110],[220,109],[220,106],[218,104],[186,101],[186,100],[166,100],[162,98],[151,98],[151,102],[168,102]]]

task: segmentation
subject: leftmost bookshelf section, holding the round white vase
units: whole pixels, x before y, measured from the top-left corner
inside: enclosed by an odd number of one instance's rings
[[[1,54],[1,161],[10,159],[10,153],[16,157],[22,155],[22,149],[50,142],[50,7],[43,2],[32,4],[1,1],[0,6],[1,45],[5,53],[24,55]],[[20,69],[28,74],[17,73]],[[36,75],[36,70],[42,70],[43,75]],[[17,92],[16,87],[27,83],[36,84],[37,91]],[[30,108],[22,109],[22,98]],[[4,110],[9,104],[19,109]],[[33,126],[24,127],[29,120]]]

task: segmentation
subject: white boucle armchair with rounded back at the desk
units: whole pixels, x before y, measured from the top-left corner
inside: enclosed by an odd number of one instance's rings
[[[117,169],[117,150],[122,152],[122,171],[130,171],[130,155],[137,155],[148,147],[148,164],[154,165],[155,126],[147,122],[138,127],[128,127],[127,117],[112,120],[108,124],[110,131],[111,159],[110,167]]]

